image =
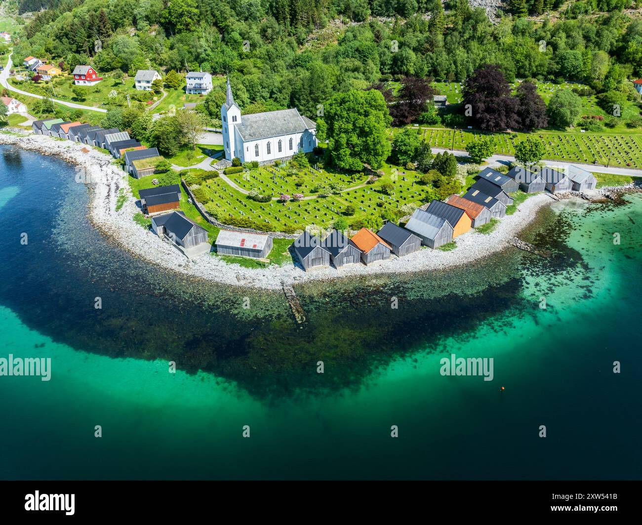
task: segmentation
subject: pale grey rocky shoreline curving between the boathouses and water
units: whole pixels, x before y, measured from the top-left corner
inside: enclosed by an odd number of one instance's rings
[[[127,183],[127,175],[112,164],[112,157],[84,144],[63,139],[42,137],[26,132],[0,133],[0,144],[14,144],[25,150],[37,151],[43,155],[54,155],[76,166],[76,180],[91,187],[88,217],[92,225],[111,241],[125,248],[136,257],[168,270],[201,277],[228,286],[249,286],[277,290],[282,283],[299,284],[311,280],[341,279],[351,276],[376,275],[381,273],[412,273],[442,270],[470,264],[483,257],[510,246],[514,237],[537,215],[544,206],[554,202],[549,194],[541,193],[528,198],[517,208],[517,212],[499,220],[490,234],[471,230],[455,242],[454,250],[430,250],[424,248],[403,258],[395,257],[370,266],[363,264],[335,268],[319,268],[304,271],[297,265],[272,265],[268,268],[243,268],[239,264],[228,264],[212,255],[205,254],[188,261],[176,248],[168,245],[149,230],[137,225],[133,216],[139,212],[136,201]],[[615,191],[630,191],[634,185],[621,188],[603,188],[602,195],[611,196]],[[121,190],[128,196],[116,211]]]

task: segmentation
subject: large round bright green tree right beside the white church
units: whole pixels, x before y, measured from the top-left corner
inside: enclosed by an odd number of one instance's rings
[[[352,89],[335,94],[324,107],[317,134],[338,168],[358,171],[363,164],[379,169],[390,156],[388,125],[392,119],[381,92]]]

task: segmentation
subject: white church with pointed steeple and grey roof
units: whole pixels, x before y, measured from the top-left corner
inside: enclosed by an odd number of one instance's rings
[[[296,109],[282,109],[243,115],[227,79],[225,103],[221,106],[225,159],[261,164],[288,159],[297,151],[317,146],[317,124]]]

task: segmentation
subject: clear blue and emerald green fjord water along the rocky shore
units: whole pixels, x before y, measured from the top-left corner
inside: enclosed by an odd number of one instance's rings
[[[51,358],[0,376],[0,478],[640,478],[639,195],[542,212],[523,237],[551,259],[297,286],[303,327],[119,250],[88,199],[0,146],[0,357]],[[493,380],[440,375],[450,354]]]

